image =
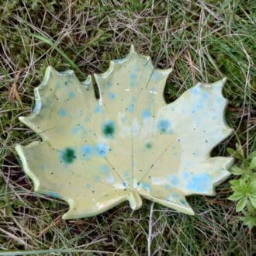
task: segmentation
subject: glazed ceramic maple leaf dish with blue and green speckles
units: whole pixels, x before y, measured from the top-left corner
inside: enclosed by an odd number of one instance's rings
[[[78,81],[74,71],[47,67],[36,106],[20,117],[42,137],[16,146],[34,190],[68,202],[64,219],[95,216],[128,200],[150,199],[194,214],[186,195],[214,195],[233,158],[210,157],[232,130],[223,117],[225,79],[199,83],[164,102],[171,69],[155,69],[131,47],[109,70]]]

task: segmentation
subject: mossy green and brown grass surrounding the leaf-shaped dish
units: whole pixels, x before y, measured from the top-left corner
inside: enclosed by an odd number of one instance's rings
[[[67,204],[33,192],[13,149],[39,139],[18,117],[31,112],[33,88],[48,64],[58,71],[73,68],[82,79],[83,73],[106,71],[109,61],[124,57],[133,43],[157,67],[174,68],[167,102],[196,81],[227,76],[227,123],[235,133],[213,155],[227,155],[235,143],[248,155],[256,150],[254,1],[5,0],[0,14],[0,250],[55,255],[256,251],[254,230],[239,222],[234,202],[227,200],[228,182],[218,186],[216,197],[189,197],[195,216],[144,201],[135,212],[124,203],[99,216],[64,221]]]

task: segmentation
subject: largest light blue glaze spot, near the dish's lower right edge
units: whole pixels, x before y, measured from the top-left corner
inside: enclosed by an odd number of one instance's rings
[[[192,192],[207,192],[212,188],[212,181],[209,175],[194,175],[192,181],[186,186]]]

